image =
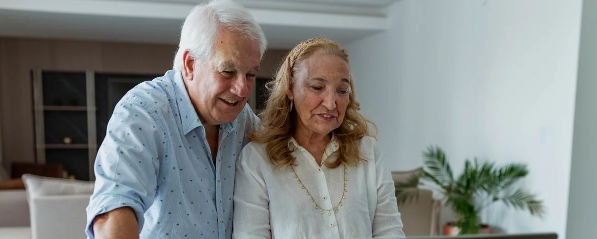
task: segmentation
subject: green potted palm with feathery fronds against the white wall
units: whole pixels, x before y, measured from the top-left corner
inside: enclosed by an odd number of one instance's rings
[[[416,200],[421,188],[431,189],[441,195],[445,204],[456,214],[450,222],[455,234],[477,234],[482,226],[479,212],[493,203],[502,202],[515,209],[528,210],[531,215],[542,216],[543,202],[514,184],[527,176],[525,164],[507,164],[496,167],[494,163],[466,160],[463,172],[454,177],[444,151],[429,146],[423,152],[424,166],[420,177],[413,176],[407,182],[396,183],[398,204]],[[444,234],[452,234],[451,232]]]

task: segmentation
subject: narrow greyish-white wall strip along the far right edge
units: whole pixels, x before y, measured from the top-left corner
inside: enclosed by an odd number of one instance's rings
[[[597,2],[584,1],[568,207],[569,239],[597,237]]]

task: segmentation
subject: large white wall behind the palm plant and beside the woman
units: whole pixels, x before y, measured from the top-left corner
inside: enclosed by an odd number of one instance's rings
[[[421,166],[427,145],[464,158],[524,162],[548,214],[485,212],[507,232],[564,238],[581,0],[402,0],[390,29],[347,45],[362,111],[392,170]]]

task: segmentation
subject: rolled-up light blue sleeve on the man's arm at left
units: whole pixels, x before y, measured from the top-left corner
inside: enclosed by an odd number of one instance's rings
[[[131,207],[139,230],[158,186],[159,155],[164,152],[164,130],[159,110],[139,103],[116,106],[107,125],[106,138],[97,152],[94,193],[87,207],[85,233],[94,238],[93,219],[119,207]]]

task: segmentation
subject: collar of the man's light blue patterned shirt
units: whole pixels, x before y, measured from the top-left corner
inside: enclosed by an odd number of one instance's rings
[[[194,130],[197,127],[203,127],[201,119],[199,119],[199,115],[195,111],[195,107],[193,103],[190,101],[189,93],[184,87],[183,77],[180,71],[168,71],[168,73],[174,74],[174,77],[171,77],[172,84],[174,85],[174,97],[176,100],[176,106],[180,112],[180,121],[183,125],[183,133],[184,135],[188,134],[190,131]],[[224,131],[232,131],[236,128],[238,124],[238,118],[232,122],[220,125],[221,130]]]

